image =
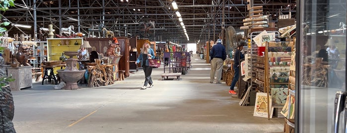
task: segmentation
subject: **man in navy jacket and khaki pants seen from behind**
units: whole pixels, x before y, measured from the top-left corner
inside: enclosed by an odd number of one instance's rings
[[[209,53],[211,57],[211,73],[209,83],[213,83],[214,75],[217,73],[216,84],[220,84],[220,78],[222,76],[222,68],[224,60],[226,59],[225,47],[222,45],[220,39],[217,40],[217,44],[212,47],[211,52]]]

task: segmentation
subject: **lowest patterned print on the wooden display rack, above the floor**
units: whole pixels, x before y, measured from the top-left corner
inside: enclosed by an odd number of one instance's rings
[[[284,106],[288,95],[288,88],[271,88],[272,106]]]

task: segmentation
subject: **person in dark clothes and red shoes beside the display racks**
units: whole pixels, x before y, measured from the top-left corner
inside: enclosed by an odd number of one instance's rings
[[[231,85],[230,85],[230,90],[229,90],[229,94],[232,95],[236,95],[237,92],[235,92],[234,87],[236,85],[236,82],[239,80],[240,78],[240,61],[241,59],[245,58],[245,56],[243,55],[243,53],[241,53],[241,51],[243,50],[243,46],[246,45],[245,41],[241,41],[239,42],[237,49],[235,50],[235,55],[234,55],[234,78],[231,81]]]

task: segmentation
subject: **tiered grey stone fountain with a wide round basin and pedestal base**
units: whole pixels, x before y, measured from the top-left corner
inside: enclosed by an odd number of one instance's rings
[[[82,78],[85,70],[78,70],[77,69],[77,59],[73,59],[73,56],[76,56],[78,52],[75,51],[64,51],[64,55],[69,56],[70,58],[67,59],[66,67],[62,70],[57,70],[59,76],[61,79],[63,79],[66,82],[66,86],[63,89],[66,90],[75,90],[79,87],[77,86],[77,81]]]

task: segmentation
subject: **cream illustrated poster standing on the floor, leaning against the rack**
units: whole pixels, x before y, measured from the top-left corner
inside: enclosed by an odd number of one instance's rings
[[[271,99],[270,100],[270,109],[271,107]],[[267,93],[257,92],[256,95],[256,103],[254,106],[253,116],[256,117],[265,117],[268,118],[268,97]]]

